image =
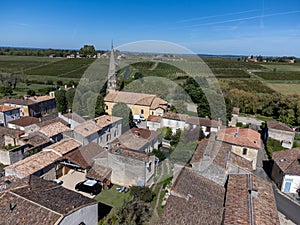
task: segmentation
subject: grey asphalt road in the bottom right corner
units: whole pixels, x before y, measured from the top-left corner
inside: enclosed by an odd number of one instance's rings
[[[300,206],[289,200],[282,194],[279,194],[277,188],[274,185],[273,192],[278,211],[294,223],[300,224]]]

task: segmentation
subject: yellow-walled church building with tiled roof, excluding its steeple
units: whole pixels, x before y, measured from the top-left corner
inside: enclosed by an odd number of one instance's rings
[[[112,115],[114,105],[124,103],[131,109],[133,115],[142,115],[144,118],[150,115],[162,116],[168,107],[168,103],[156,95],[124,91],[108,92],[104,102],[105,111],[109,115]]]

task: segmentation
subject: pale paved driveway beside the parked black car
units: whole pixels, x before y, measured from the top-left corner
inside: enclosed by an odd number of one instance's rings
[[[59,179],[63,181],[62,186],[64,188],[67,188],[67,189],[72,190],[72,191],[76,191],[75,186],[76,186],[77,183],[86,180],[85,173],[78,172],[78,171],[75,171],[75,170],[70,170],[68,174],[60,177]],[[84,195],[88,198],[93,198],[93,196],[91,196],[88,193],[81,192],[81,191],[79,191],[78,193],[80,193],[80,194],[82,194],[82,195]]]

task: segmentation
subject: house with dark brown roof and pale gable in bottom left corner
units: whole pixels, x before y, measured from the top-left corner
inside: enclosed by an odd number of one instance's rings
[[[36,176],[0,178],[5,224],[98,224],[98,203]]]

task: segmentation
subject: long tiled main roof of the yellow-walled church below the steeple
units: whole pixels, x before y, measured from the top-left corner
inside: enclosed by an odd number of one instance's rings
[[[105,102],[125,103],[131,105],[144,105],[151,106],[153,100],[156,98],[155,95],[114,91],[109,92],[105,97]]]

